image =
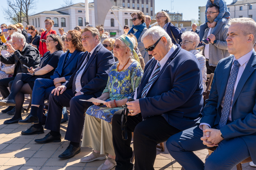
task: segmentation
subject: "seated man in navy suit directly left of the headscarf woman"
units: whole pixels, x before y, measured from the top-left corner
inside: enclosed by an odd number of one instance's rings
[[[82,44],[87,50],[78,62],[79,65],[70,79],[52,90],[49,96],[49,110],[45,129],[51,130],[37,143],[60,142],[60,121],[62,107],[70,106],[69,123],[65,139],[70,141],[67,149],[59,158],[67,159],[80,152],[81,133],[84,126],[84,112],[93,103],[81,100],[98,98],[108,79],[108,72],[114,63],[112,53],[100,43],[99,31],[87,27],[82,34]]]

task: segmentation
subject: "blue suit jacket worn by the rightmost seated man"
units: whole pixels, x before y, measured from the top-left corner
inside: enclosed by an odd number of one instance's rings
[[[219,124],[221,102],[225,95],[234,55],[223,58],[217,65],[209,99],[203,111],[200,123],[208,123],[211,127]],[[252,53],[243,74],[237,84],[232,103],[232,122],[222,127],[225,140],[242,137],[248,146],[252,161],[256,162],[256,52]],[[239,147],[239,146],[234,146]]]

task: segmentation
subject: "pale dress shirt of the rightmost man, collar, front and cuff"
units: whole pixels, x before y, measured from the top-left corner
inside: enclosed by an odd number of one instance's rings
[[[239,82],[239,80],[240,80],[240,78],[241,78],[241,76],[243,74],[243,71],[244,71],[244,69],[245,69],[249,59],[252,56],[252,52],[253,52],[253,49],[252,49],[252,51],[248,52],[246,55],[243,55],[241,58],[237,59],[237,61],[239,62],[240,66],[238,68],[237,79],[235,81],[234,90],[233,90],[232,97],[231,97],[230,110],[229,110],[229,114],[228,114],[228,120],[229,121],[232,121],[232,119],[231,119],[232,103],[233,103],[233,99],[234,99],[234,94],[235,94],[236,89],[237,89],[237,84],[238,84],[238,82]],[[234,66],[234,61],[235,60],[236,60],[236,58],[234,57],[233,61],[232,61],[231,70],[232,70],[232,68]],[[227,85],[227,87],[228,87],[228,85]],[[226,90],[227,90],[227,87],[226,87]],[[226,94],[226,92],[225,92],[225,94]],[[222,108],[223,108],[223,104],[224,104],[224,99],[225,99],[225,95],[224,95],[224,97],[222,99],[222,102],[220,104]],[[199,126],[200,129],[202,129],[201,125],[208,125],[211,128],[211,126],[209,124],[207,124],[207,123],[200,123],[200,126]]]

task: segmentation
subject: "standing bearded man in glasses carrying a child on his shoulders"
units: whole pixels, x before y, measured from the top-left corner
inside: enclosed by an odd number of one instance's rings
[[[212,23],[214,19],[219,14],[219,7],[216,5],[211,5],[207,9],[207,20]],[[228,57],[230,54],[228,53],[228,44],[226,41],[228,25],[224,24],[221,27],[221,30],[215,35],[211,34],[215,27],[208,28],[205,30],[204,38],[210,38],[211,43],[205,44],[203,48],[202,55],[206,58],[206,68],[207,74],[214,73],[214,70],[218,64],[218,62],[222,58]]]

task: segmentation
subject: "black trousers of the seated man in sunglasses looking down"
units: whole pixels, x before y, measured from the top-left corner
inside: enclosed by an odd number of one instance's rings
[[[154,170],[156,146],[166,141],[170,136],[181,132],[169,125],[161,116],[157,115],[142,121],[142,116],[128,116],[128,140],[122,140],[121,117],[123,110],[117,111],[112,118],[113,145],[116,154],[116,170],[131,170],[132,148],[131,133],[134,132],[135,170]]]

